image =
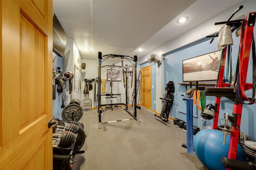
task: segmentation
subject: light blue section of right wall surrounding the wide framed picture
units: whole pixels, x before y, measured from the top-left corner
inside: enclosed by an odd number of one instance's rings
[[[254,32],[256,29],[254,29]],[[254,35],[255,37],[255,35]],[[255,37],[256,38],[256,37]],[[238,57],[238,49],[240,43],[240,37],[236,37],[233,33],[234,45],[232,45],[232,75],[236,69],[236,61]],[[204,55],[206,53],[217,51],[217,43],[218,39],[214,39],[214,41],[210,44],[210,39],[208,41],[201,41],[201,43],[195,43],[189,45],[188,47],[184,47],[183,49],[174,50],[166,56],[167,61],[164,61],[164,83],[172,80],[175,83],[175,95],[177,92],[185,93],[189,90],[189,86],[186,89],[184,85],[180,85],[177,83],[182,82],[182,60],[190,59],[192,57],[196,57],[199,55]],[[252,82],[252,61],[249,62],[248,67],[248,76],[247,82]],[[216,81],[207,81],[206,83],[216,83]],[[180,93],[178,93],[180,95]],[[251,96],[248,95],[249,97]],[[212,103],[215,104],[215,97],[214,96],[206,96],[206,104]],[[184,105],[185,102],[177,101],[177,96],[174,97],[173,108],[170,113],[170,116],[173,118],[179,118],[186,121],[186,114],[180,113],[177,111],[178,105]],[[195,105],[193,107],[196,107]],[[232,115],[234,107],[234,102],[231,100],[222,97],[220,103],[220,114],[219,118],[224,118],[224,113],[229,113]],[[254,122],[256,121],[256,105],[244,105],[242,110],[242,120],[241,120],[241,131],[247,133],[251,137],[256,139],[256,129],[254,126]],[[200,113],[198,118],[193,118],[194,125],[198,126],[200,129],[203,128],[202,121],[200,119]],[[213,120],[206,120],[206,125],[212,125]],[[224,122],[219,120],[218,125],[223,125]]]

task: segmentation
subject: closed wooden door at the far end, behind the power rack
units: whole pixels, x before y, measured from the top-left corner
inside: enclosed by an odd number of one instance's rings
[[[141,68],[141,104],[151,109],[151,65]]]

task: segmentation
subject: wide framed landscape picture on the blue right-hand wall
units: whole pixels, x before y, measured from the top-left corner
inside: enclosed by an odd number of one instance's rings
[[[217,80],[221,51],[182,61],[183,81]]]

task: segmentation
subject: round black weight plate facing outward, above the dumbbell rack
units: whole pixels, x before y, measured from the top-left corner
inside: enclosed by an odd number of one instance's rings
[[[70,104],[62,110],[62,119],[71,123],[72,121],[79,121],[83,116],[83,109],[78,104]]]

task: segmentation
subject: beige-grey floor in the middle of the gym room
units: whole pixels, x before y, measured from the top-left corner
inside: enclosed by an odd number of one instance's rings
[[[128,107],[131,113],[134,107]],[[97,110],[84,111],[81,122],[87,135],[83,154],[76,154],[73,170],[207,170],[196,154],[182,147],[186,133],[163,122],[141,107],[136,120],[103,124],[98,129]],[[132,118],[124,107],[104,109],[102,122]]]

